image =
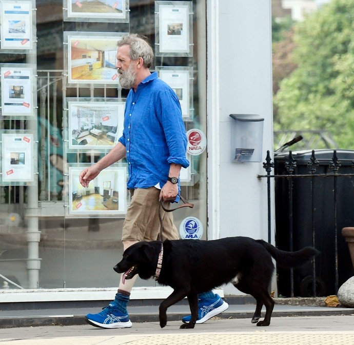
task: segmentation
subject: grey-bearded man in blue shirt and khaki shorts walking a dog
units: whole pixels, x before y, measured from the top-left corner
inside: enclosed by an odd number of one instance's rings
[[[149,71],[153,63],[151,46],[142,36],[130,34],[118,42],[116,58],[120,84],[122,88],[130,89],[123,135],[105,157],[81,172],[79,180],[82,186],[87,187],[103,169],[126,157],[127,187],[132,198],[123,224],[125,250],[138,241],[156,240],[160,231],[163,239],[179,239],[172,213],[160,208],[160,200],[174,201],[178,198],[180,171],[182,167],[189,166],[189,161],[178,97],[157,77],[156,72],[151,74]],[[114,301],[102,312],[86,316],[86,321],[92,326],[132,326],[126,307],[137,276],[124,283],[122,277]],[[228,308],[227,303],[211,291],[199,297],[202,300],[200,322]],[[186,316],[184,322],[189,322],[189,318]]]

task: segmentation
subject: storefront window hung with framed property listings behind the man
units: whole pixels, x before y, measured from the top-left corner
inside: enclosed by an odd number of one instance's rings
[[[4,9],[14,5],[29,6],[31,16],[12,21]],[[173,84],[186,131],[206,133],[205,1],[1,0],[0,6],[2,25],[9,23],[2,43],[6,35],[27,33],[20,26],[24,23],[32,26],[36,41],[33,49],[0,50],[0,289],[116,287],[119,276],[112,268],[122,257],[129,204],[125,163],[102,172],[89,188],[77,179],[121,135],[127,90],[114,78],[116,41],[132,32],[149,38],[156,53],[150,70]],[[186,15],[170,16],[171,8]],[[169,35],[178,44],[171,44]],[[14,75],[26,68],[33,72],[28,83],[5,77],[8,71]],[[31,115],[12,114],[13,104],[23,106],[30,95],[33,107],[26,109],[33,108]],[[206,152],[188,158],[181,193],[194,208],[175,211],[174,221],[179,228],[186,217],[198,218],[206,239]],[[137,280],[135,286],[155,282]]]

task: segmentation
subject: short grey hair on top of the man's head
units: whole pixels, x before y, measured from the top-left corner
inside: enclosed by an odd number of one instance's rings
[[[123,36],[117,43],[118,47],[122,47],[124,45],[128,45],[130,47],[129,57],[132,60],[142,57],[144,60],[144,67],[150,68],[153,63],[154,56],[152,47],[147,42],[147,37],[136,33],[131,33],[128,36]]]

